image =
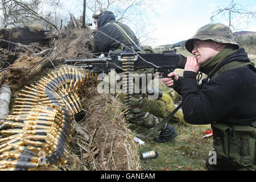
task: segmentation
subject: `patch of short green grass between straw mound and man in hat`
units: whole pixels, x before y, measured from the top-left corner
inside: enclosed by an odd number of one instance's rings
[[[141,170],[148,171],[205,171],[205,160],[212,150],[212,137],[202,139],[204,131],[212,130],[210,125],[180,125],[172,124],[178,135],[168,143],[154,142],[153,138],[142,140],[145,142],[139,148],[139,154],[146,151],[157,151],[154,159],[141,159]],[[149,130],[139,131],[139,133]],[[137,131],[138,133],[138,131]],[[157,136],[157,134],[155,135]]]

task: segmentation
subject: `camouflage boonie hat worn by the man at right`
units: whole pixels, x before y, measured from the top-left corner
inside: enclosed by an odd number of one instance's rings
[[[237,42],[233,40],[233,33],[230,28],[221,23],[210,23],[199,28],[195,35],[185,42],[185,48],[189,52],[192,52],[194,48],[194,39],[213,40],[214,42],[218,43],[233,44],[239,48]]]

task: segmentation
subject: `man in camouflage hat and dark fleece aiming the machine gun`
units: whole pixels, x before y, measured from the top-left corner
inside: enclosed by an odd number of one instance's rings
[[[234,41],[229,27],[207,24],[185,42],[188,56],[183,77],[172,72],[163,78],[166,86],[177,81],[182,96],[184,120],[213,129],[213,170],[256,169],[256,68],[244,48]],[[208,75],[201,84],[201,71]]]

